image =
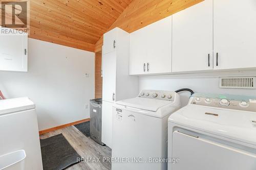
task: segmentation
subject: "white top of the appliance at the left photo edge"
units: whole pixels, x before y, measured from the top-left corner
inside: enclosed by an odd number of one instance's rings
[[[29,98],[0,100],[0,115],[34,108],[35,104]]]

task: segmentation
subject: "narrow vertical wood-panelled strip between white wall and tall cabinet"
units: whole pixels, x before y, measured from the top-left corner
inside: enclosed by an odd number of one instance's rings
[[[102,98],[101,53],[95,53],[95,99]]]

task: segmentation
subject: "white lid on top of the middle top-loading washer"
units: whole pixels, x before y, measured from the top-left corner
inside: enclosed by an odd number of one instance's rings
[[[118,105],[129,106],[137,109],[156,112],[159,108],[172,104],[172,101],[146,99],[146,98],[132,98],[116,102]]]

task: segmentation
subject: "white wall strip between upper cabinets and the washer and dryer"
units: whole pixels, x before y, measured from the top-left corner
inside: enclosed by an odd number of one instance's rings
[[[216,94],[237,94],[256,95],[256,89],[224,89],[219,88],[219,77],[226,76],[256,76],[256,72],[226,73],[212,75],[180,75],[180,76],[145,76],[140,77],[140,90],[171,90],[176,91],[181,88],[190,88],[194,92],[216,93]],[[182,106],[188,102],[190,93],[180,92]]]

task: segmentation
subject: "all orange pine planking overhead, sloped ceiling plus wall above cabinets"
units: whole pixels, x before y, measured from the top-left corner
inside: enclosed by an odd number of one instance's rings
[[[31,0],[29,37],[100,52],[109,30],[131,33],[202,1]]]

